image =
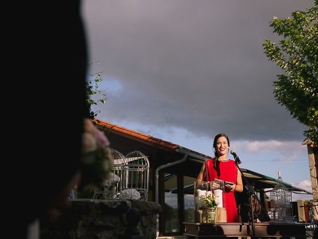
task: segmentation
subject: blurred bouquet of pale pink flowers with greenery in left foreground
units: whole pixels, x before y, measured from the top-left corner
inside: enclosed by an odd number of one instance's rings
[[[82,169],[79,189],[97,189],[108,179],[113,166],[109,141],[90,119],[84,119]]]

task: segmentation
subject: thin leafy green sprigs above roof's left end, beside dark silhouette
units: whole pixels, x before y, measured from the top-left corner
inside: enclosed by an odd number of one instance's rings
[[[100,113],[100,111],[93,112],[91,110],[91,106],[97,105],[99,102],[102,104],[105,104],[106,99],[107,99],[107,98],[105,98],[106,95],[102,91],[98,90],[98,83],[103,81],[103,79],[100,75],[102,73],[103,72],[90,74],[89,76],[93,79],[86,81],[86,85],[85,85],[85,87],[86,87],[86,109],[87,109],[86,117],[90,118],[90,119],[96,118],[96,116]],[[92,98],[94,98],[94,96],[97,94],[99,94],[101,96],[101,99],[93,100]]]

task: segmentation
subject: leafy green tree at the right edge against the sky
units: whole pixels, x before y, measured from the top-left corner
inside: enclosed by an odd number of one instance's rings
[[[318,0],[306,11],[286,19],[273,18],[270,27],[283,39],[265,39],[264,53],[283,69],[274,81],[275,99],[291,116],[308,126],[304,135],[318,144]]]

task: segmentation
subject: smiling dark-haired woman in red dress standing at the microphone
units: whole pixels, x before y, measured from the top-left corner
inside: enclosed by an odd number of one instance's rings
[[[242,177],[234,160],[228,158],[230,140],[224,133],[219,133],[213,141],[215,157],[207,160],[198,175],[197,181],[214,181],[220,179],[233,182],[233,185],[225,185],[225,208],[227,211],[227,222],[238,222],[237,203],[234,192],[243,191]],[[218,189],[219,185],[214,183],[213,189]]]

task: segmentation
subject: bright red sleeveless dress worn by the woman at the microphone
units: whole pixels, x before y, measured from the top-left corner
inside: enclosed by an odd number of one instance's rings
[[[235,165],[233,160],[229,161],[218,161],[217,169],[213,167],[213,159],[206,161],[207,181],[214,181],[214,179],[221,179],[230,182],[237,182],[238,167]],[[237,223],[238,222],[238,210],[237,203],[235,201],[234,192],[226,191],[225,195],[225,208],[227,210],[227,222]]]

